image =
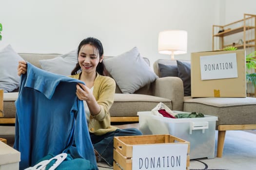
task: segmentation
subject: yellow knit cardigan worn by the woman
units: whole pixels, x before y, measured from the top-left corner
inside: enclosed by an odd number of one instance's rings
[[[79,79],[80,74],[71,75],[69,77]],[[88,129],[94,135],[103,135],[113,132],[118,128],[110,125],[109,109],[114,102],[114,94],[116,90],[116,82],[108,76],[102,76],[97,73],[94,80],[93,95],[100,105],[100,112],[95,116],[90,116]]]

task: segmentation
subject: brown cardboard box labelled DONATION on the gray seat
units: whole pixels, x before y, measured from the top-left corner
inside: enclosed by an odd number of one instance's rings
[[[245,51],[191,53],[192,97],[246,97]]]

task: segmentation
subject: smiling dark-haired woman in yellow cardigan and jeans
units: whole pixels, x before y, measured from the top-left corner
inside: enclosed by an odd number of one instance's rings
[[[78,47],[78,63],[71,72],[72,78],[83,81],[77,85],[76,94],[84,102],[85,114],[96,160],[101,158],[113,166],[114,136],[142,135],[136,128],[118,129],[110,125],[109,109],[114,102],[116,83],[103,76],[103,47],[93,37],[82,40]],[[18,75],[27,71],[25,61],[19,62]]]

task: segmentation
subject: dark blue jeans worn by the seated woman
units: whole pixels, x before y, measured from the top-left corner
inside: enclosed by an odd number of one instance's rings
[[[113,166],[114,136],[136,136],[142,133],[136,128],[117,129],[101,136],[90,133],[94,149],[109,166]]]

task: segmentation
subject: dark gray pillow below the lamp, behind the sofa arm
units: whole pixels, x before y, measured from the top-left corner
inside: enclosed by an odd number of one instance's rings
[[[178,77],[178,68],[177,65],[164,65],[164,64],[158,64],[159,68],[159,76],[160,77]]]

